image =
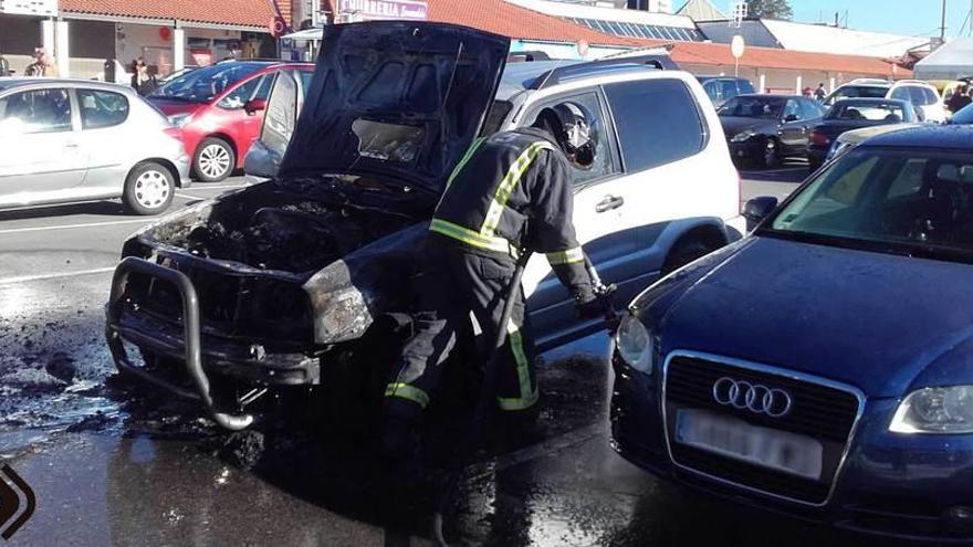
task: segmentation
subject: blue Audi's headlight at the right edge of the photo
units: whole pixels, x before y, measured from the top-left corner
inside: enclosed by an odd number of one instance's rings
[[[894,433],[973,433],[973,386],[924,388],[909,393],[896,411]]]

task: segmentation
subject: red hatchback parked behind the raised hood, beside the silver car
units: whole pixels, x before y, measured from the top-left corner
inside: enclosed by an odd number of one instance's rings
[[[292,72],[306,93],[314,65],[226,61],[187,72],[149,94],[149,102],[182,128],[197,180],[216,182],[243,167],[250,145],[260,137],[266,98],[280,71]]]

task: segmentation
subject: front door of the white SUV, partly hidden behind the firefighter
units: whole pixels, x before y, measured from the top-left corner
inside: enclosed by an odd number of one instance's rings
[[[624,250],[613,246],[607,238],[621,223],[626,198],[629,203],[632,198],[628,196],[624,181],[619,180],[614,127],[601,91],[590,87],[537,101],[521,118],[522,125],[531,125],[543,108],[565,102],[585,112],[596,149],[590,169],[572,169],[577,239],[596,265],[610,264]],[[605,271],[606,280],[610,278],[609,273]],[[527,305],[537,333],[556,337],[574,323],[574,307],[567,290],[557,281],[545,256],[536,255],[531,260],[524,273],[524,291],[530,295]]]

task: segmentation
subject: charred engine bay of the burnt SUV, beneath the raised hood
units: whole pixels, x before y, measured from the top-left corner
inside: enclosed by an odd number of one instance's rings
[[[149,232],[205,259],[311,273],[428,217],[430,198],[362,177],[271,181]]]

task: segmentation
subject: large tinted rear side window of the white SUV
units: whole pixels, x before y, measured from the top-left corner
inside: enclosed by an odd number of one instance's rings
[[[628,172],[699,154],[705,128],[695,101],[679,80],[620,82],[605,86]]]

